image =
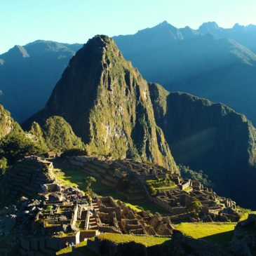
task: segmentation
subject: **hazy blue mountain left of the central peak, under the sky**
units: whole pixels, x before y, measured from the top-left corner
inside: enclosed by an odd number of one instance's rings
[[[34,41],[0,55],[0,102],[17,121],[42,109],[80,44]]]

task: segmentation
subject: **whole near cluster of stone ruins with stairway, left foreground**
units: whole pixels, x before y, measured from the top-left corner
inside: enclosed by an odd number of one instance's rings
[[[58,195],[58,196],[57,196]],[[60,198],[62,200],[58,200]],[[171,236],[174,225],[169,217],[136,212],[112,197],[84,196],[79,189],[61,187],[61,191],[41,194],[33,236],[20,240],[21,255],[53,253],[65,243],[80,243],[101,233],[144,236]]]

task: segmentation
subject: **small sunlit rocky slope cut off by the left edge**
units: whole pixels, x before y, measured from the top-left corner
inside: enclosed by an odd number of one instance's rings
[[[15,128],[15,121],[11,118],[10,113],[0,105],[0,139],[5,137]]]

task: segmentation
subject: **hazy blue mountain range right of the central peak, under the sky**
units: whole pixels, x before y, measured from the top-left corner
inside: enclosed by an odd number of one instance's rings
[[[256,55],[234,39],[202,28],[177,29],[167,22],[114,36],[123,56],[147,81],[222,102],[256,123]]]

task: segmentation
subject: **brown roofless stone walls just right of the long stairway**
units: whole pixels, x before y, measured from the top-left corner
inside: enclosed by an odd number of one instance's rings
[[[95,216],[101,232],[170,236],[175,228],[169,217],[152,215],[144,210],[136,212],[109,196],[97,198],[97,207]]]

